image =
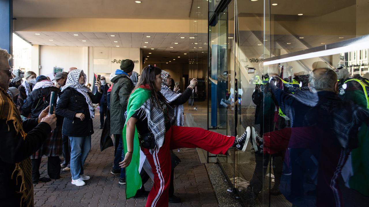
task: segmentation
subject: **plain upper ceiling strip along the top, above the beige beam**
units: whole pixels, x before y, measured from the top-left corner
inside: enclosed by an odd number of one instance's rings
[[[192,0],[14,0],[13,16],[39,18],[188,19]],[[204,0],[206,1],[206,0]]]

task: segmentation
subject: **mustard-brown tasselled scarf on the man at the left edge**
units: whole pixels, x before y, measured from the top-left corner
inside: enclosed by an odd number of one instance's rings
[[[27,81],[24,81],[27,82]],[[11,98],[6,91],[0,87],[0,119],[6,120],[9,126],[12,125],[15,129],[15,134],[19,134],[25,140],[27,134],[23,130],[23,123],[18,109],[15,107]],[[30,157],[15,164],[13,173],[10,179],[17,180],[16,184],[20,184],[20,189],[17,193],[21,194],[19,206],[33,206],[33,184],[32,184],[32,164]],[[18,177],[21,178],[21,183],[18,183]]]

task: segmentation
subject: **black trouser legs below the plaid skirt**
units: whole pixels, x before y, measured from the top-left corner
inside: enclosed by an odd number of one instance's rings
[[[40,178],[39,168],[41,165],[41,158],[32,160],[32,181],[38,181]],[[60,158],[59,156],[48,157],[47,159],[47,174],[51,179],[60,178]]]

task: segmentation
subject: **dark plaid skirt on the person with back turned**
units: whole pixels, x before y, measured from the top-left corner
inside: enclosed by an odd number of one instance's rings
[[[62,144],[62,126],[56,126],[41,148],[31,155],[31,159],[41,158],[42,155],[47,157],[62,156]]]

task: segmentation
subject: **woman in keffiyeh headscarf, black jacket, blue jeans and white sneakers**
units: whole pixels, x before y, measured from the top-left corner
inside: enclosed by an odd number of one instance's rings
[[[62,133],[70,140],[70,172],[72,184],[83,186],[83,180],[90,179],[83,171],[83,164],[91,149],[92,119],[95,109],[92,103],[99,103],[101,99],[101,83],[96,81],[97,93],[92,94],[85,86],[86,74],[82,69],[70,71],[66,85],[59,93],[56,114],[64,117]]]

